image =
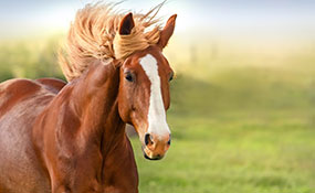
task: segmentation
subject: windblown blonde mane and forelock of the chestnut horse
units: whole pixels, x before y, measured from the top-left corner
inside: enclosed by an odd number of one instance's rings
[[[134,13],[135,26],[129,35],[118,33],[120,20],[127,12],[114,11],[115,4],[87,4],[78,10],[59,54],[66,79],[81,76],[92,60],[105,63],[125,60],[136,51],[157,44],[160,25],[155,17],[162,4],[146,14]]]

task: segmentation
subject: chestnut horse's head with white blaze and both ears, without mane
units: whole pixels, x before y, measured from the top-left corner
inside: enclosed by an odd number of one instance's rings
[[[125,122],[133,125],[141,141],[145,158],[161,159],[170,147],[170,129],[166,111],[170,106],[169,82],[174,72],[162,54],[175,29],[176,15],[167,21],[155,45],[137,51],[119,67],[118,111]],[[129,35],[135,22],[125,15],[118,35]]]

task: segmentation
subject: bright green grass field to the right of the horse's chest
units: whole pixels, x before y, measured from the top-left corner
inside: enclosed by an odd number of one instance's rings
[[[161,161],[133,139],[140,192],[315,193],[315,129],[301,120],[169,117]]]

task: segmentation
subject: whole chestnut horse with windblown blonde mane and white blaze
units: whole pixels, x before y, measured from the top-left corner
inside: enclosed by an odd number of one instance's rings
[[[144,157],[170,147],[166,111],[174,71],[162,50],[177,15],[78,10],[54,78],[0,84],[0,193],[137,193],[138,172],[125,133],[135,127]]]

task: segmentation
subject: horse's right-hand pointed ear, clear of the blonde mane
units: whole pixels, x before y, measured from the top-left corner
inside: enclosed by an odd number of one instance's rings
[[[174,29],[175,29],[176,18],[177,18],[177,14],[171,15],[167,20],[167,23],[166,23],[165,28],[160,32],[160,37],[159,37],[159,41],[158,41],[157,45],[160,46],[161,49],[164,49],[167,45],[168,40],[172,35],[172,32],[174,32]]]

